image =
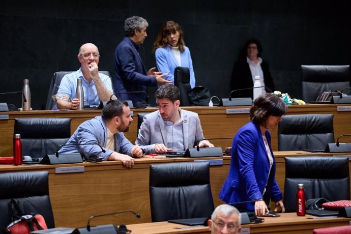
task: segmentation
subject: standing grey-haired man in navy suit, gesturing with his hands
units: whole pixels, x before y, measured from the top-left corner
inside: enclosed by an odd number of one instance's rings
[[[147,87],[171,83],[163,77],[167,74],[155,72],[155,67],[148,72],[142,64],[138,53],[139,46],[147,35],[148,21],[132,16],[124,24],[125,38],[114,51],[114,77],[113,89],[115,93],[145,91],[144,93],[117,94],[122,100],[131,100],[133,105],[137,102],[147,101]]]

